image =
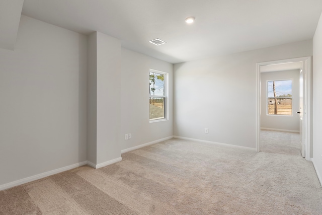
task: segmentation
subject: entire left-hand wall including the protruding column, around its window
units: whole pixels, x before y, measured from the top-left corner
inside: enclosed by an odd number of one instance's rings
[[[0,49],[0,188],[172,136],[172,93],[169,120],[148,120],[150,68],[169,73],[172,92],[173,64],[22,16],[15,51]]]

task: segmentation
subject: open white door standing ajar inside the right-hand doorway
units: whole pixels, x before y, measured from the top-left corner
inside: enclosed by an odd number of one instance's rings
[[[300,70],[300,110],[297,112],[300,117],[300,150],[302,157],[305,158],[305,123],[303,117],[305,117],[305,108],[303,107],[303,101],[304,101],[304,71]]]

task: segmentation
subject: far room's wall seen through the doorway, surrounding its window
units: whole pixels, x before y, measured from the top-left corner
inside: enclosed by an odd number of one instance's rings
[[[299,69],[261,73],[261,127],[299,132]],[[292,116],[267,115],[267,81],[293,79]]]

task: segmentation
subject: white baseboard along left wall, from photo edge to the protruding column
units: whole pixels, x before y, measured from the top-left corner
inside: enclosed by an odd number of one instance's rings
[[[72,165],[69,165],[69,166],[66,166],[66,167],[62,167],[62,168],[59,168],[59,169],[55,169],[55,170],[51,170],[51,171],[48,171],[48,172],[40,173],[38,175],[30,176],[30,177],[23,178],[23,179],[20,179],[20,180],[17,180],[17,181],[9,182],[7,184],[0,185],[0,190],[5,190],[5,189],[11,188],[11,187],[15,187],[15,186],[25,184],[25,183],[28,183],[28,182],[31,182],[31,181],[35,181],[35,180],[38,180],[38,179],[41,179],[41,178],[45,178],[47,176],[51,176],[51,175],[54,175],[54,174],[57,174],[57,173],[61,173],[61,172],[67,171],[67,170],[71,170],[71,169],[74,169],[74,168],[77,168],[77,167],[80,167],[80,166],[84,166],[87,163],[88,163],[87,161],[83,161],[83,162],[79,162],[77,164],[72,164]]]

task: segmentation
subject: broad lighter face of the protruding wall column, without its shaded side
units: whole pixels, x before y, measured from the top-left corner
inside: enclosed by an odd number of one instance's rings
[[[97,32],[97,164],[121,157],[121,41]]]

